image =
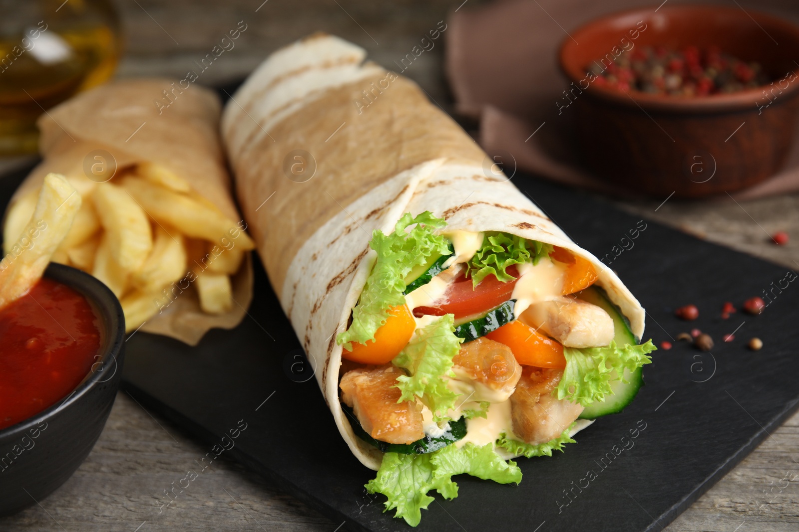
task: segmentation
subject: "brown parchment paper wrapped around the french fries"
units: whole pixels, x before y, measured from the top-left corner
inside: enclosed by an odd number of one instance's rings
[[[177,81],[165,79],[117,81],[81,93],[39,119],[39,149],[44,160],[14,193],[10,205],[26,191],[40,187],[50,171],[65,174],[81,195],[89,194],[97,180],[89,179],[91,164],[98,162],[93,152],[105,150],[116,161],[117,175],[119,169],[138,162],[161,164],[237,223],[240,215],[233,203],[218,134],[220,112],[217,96],[208,89],[194,85],[181,89]],[[111,183],[113,179],[116,175]],[[203,313],[197,293],[190,288],[141,330],[196,345],[213,327],[232,329],[252,301],[249,256],[231,281],[235,302],[229,313]]]

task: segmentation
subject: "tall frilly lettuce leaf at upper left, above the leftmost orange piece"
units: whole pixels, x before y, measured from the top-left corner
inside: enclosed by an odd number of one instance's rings
[[[451,254],[447,239],[433,234],[446,225],[443,219],[435,218],[430,211],[416,217],[405,213],[396,223],[393,233],[372,233],[369,246],[377,252],[377,258],[358,304],[352,309],[352,325],[336,337],[337,344],[352,349],[353,341],[359,344],[375,341],[375,332],[386,322],[388,309],[405,302],[405,276],[414,266],[427,262],[434,253]]]

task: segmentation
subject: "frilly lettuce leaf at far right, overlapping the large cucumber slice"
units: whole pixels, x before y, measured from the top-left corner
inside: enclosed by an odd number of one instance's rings
[[[647,356],[657,348],[651,340],[642,345],[618,347],[611,341],[607,347],[584,349],[563,348],[566,369],[555,390],[558,399],[568,399],[573,403],[588,406],[594,401],[603,401],[613,393],[610,383],[624,378],[624,370],[634,371],[642,365],[650,364]]]

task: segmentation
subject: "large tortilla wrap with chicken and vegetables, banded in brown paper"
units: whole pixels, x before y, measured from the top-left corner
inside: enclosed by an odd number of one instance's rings
[[[518,483],[642,383],[644,310],[413,82],[316,34],[227,104],[244,219],[371,492]]]

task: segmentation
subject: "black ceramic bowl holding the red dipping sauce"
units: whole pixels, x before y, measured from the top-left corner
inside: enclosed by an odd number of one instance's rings
[[[100,357],[71,394],[0,431],[0,515],[36,504],[69,479],[100,436],[122,375],[125,317],[102,282],[51,263],[45,277],[82,294],[100,324]]]

